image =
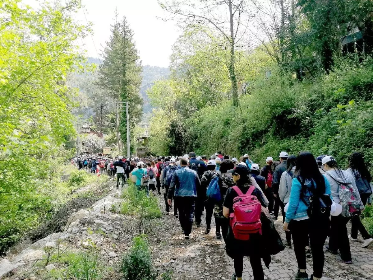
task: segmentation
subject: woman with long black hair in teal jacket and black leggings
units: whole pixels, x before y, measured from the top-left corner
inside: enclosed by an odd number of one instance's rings
[[[324,243],[329,229],[329,216],[318,220],[308,216],[310,198],[330,196],[330,186],[326,178],[320,174],[319,167],[312,153],[301,152],[297,159],[295,169],[296,178],[292,180],[289,207],[286,211],[283,228],[291,229],[294,243],[294,252],[298,262],[298,272],[295,279],[308,279],[306,273],[306,252],[308,236],[313,256],[313,275],[311,280],[319,280],[324,268]],[[330,197],[331,203],[331,197]]]

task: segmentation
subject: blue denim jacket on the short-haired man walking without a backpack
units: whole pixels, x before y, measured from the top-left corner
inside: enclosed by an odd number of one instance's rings
[[[197,197],[200,184],[197,172],[182,166],[172,175],[168,198],[172,199],[172,196]]]

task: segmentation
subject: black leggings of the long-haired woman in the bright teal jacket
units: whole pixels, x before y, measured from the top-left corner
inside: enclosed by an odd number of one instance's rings
[[[302,221],[291,220],[291,233],[293,236],[294,252],[297,258],[298,268],[306,269],[305,249],[310,237],[310,247],[313,258],[313,275],[321,278],[324,269],[324,243],[327,236],[327,230],[316,224],[311,224],[310,219]],[[326,227],[327,225],[325,225]]]

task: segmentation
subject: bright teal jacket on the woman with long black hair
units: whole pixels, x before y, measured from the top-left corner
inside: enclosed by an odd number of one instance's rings
[[[330,196],[330,185],[326,177],[323,175],[325,181],[325,194]],[[311,187],[311,181],[306,180],[305,185],[307,187]],[[305,205],[303,199],[300,199],[302,185],[297,178],[294,178],[291,185],[291,192],[290,192],[290,199],[289,199],[289,206],[288,211],[286,211],[285,222],[289,223],[292,219],[295,218],[303,218],[307,216],[307,209],[308,206]],[[304,200],[308,201],[310,198],[311,193],[309,191],[306,192],[304,196]]]

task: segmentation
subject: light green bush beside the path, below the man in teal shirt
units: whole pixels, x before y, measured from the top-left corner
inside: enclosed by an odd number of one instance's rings
[[[128,180],[128,188],[123,191],[120,212],[124,215],[138,215],[142,218],[160,218],[162,212],[158,199],[153,193],[146,194],[145,190],[138,190],[135,184]]]

